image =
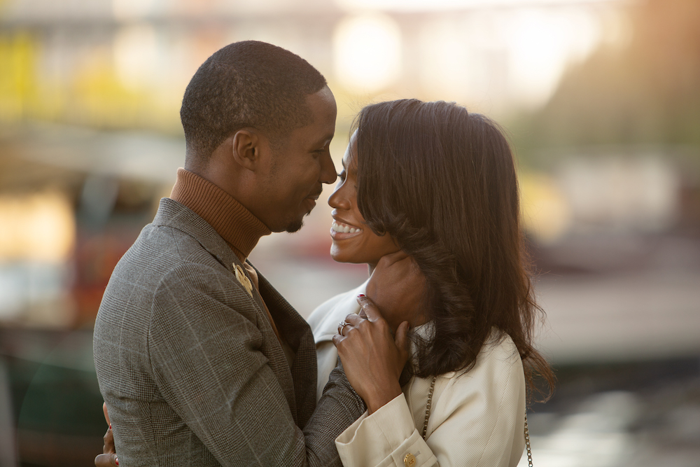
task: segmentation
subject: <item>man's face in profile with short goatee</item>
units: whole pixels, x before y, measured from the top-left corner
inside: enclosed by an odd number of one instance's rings
[[[260,180],[259,212],[253,212],[273,232],[296,232],[316,206],[323,183],[337,177],[330,158],[337,107],[328,86],[307,96],[314,120],[293,130],[279,148],[267,145],[269,169]]]

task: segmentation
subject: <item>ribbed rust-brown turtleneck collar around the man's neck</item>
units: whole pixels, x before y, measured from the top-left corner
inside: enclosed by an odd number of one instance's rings
[[[243,204],[207,179],[178,169],[170,198],[195,211],[245,261],[263,235],[272,233]]]

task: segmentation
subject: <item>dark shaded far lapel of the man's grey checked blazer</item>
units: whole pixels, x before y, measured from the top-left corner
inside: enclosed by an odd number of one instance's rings
[[[316,408],[316,344],[311,327],[267,279],[258,272],[260,294],[286,342],[294,351],[291,375],[296,396],[297,425],[307,424]],[[290,405],[291,407],[291,405]]]

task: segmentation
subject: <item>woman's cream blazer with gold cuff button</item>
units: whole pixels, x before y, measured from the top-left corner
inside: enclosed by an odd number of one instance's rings
[[[338,323],[359,312],[356,297],[365,286],[367,282],[336,295],[309,316],[318,358],[316,398],[335,368],[338,354],[332,337]],[[423,440],[430,382],[413,377],[401,396],[371,415],[365,412],[341,433],[335,445],[343,465],[517,466],[525,446],[525,378],[510,336],[493,330],[471,370],[437,377]]]

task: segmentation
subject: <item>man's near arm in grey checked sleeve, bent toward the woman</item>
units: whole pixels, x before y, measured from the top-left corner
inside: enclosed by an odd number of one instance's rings
[[[149,332],[162,395],[222,465],[339,465],[334,441],[364,412],[361,399],[336,374],[305,436],[262,352],[270,343],[257,319],[221,272],[171,272],[155,295]]]

